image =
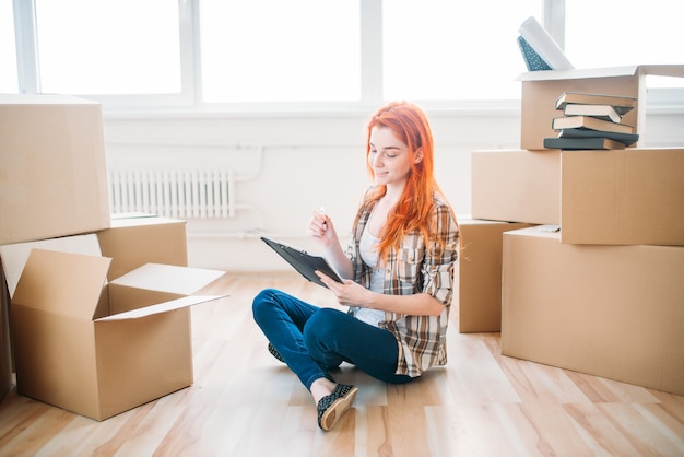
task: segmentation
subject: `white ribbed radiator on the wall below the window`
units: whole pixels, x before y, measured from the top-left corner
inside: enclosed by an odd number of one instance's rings
[[[113,171],[111,212],[144,212],[166,218],[235,216],[231,171]]]

